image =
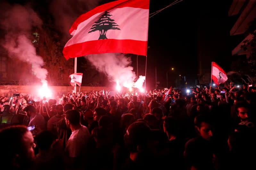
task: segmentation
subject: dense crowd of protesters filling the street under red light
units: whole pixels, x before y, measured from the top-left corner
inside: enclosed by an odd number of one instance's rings
[[[168,90],[0,97],[1,167],[256,169],[256,87]]]

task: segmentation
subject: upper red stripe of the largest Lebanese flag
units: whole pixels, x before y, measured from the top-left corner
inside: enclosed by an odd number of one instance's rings
[[[103,4],[101,6],[98,6],[94,8],[91,11],[88,11],[85,14],[82,14],[80,17],[77,18],[77,20],[74,22],[72,27],[69,30],[69,33],[71,34],[74,30],[77,29],[77,26],[87,20],[88,18],[92,17],[93,15],[103,12],[112,10],[113,8],[123,8],[123,7],[133,7],[133,8],[142,8],[142,9],[149,9],[149,0],[119,0],[110,2],[107,4]]]

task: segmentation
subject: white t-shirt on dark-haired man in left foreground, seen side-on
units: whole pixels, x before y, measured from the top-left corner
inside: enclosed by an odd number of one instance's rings
[[[87,149],[88,139],[90,137],[89,130],[83,126],[72,132],[65,151],[69,153],[69,157],[83,157]]]

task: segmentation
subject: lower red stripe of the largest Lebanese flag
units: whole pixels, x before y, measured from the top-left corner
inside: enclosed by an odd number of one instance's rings
[[[132,53],[146,56],[147,41],[105,39],[73,44],[63,49],[63,55],[67,60],[69,58],[101,53]]]

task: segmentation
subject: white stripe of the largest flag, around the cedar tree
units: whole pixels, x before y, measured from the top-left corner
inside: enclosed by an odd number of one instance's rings
[[[120,28],[120,30],[108,30],[106,37],[108,39],[116,40],[137,40],[147,41],[147,29],[148,29],[148,9],[123,7],[115,8],[108,11],[111,19]],[[95,21],[103,14],[97,13],[88,18],[84,22],[80,23],[75,31],[74,36],[67,42],[65,47],[76,43],[82,43],[86,41],[94,41],[99,39],[99,31],[91,32],[91,28],[95,24]],[[132,17],[136,16],[136,17]]]

